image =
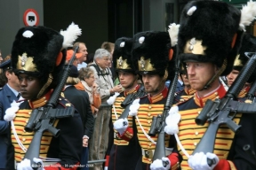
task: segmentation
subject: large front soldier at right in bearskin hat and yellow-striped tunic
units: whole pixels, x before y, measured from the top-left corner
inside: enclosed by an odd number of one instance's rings
[[[253,139],[255,119],[252,114],[243,116],[236,114],[234,121],[242,125],[241,131],[236,135],[226,125],[220,126],[212,153],[202,151],[191,155],[209,126],[208,122],[204,126],[198,126],[195,119],[206,100],[225,96],[226,91],[219,77],[227,75],[232,70],[243,28],[255,17],[253,13],[250,13],[255,12],[255,7],[255,3],[250,2],[246,8],[252,11],[244,9],[241,14],[234,6],[223,2],[191,1],[181,12],[178,38],[179,58],[187,68],[191,88],[196,89],[195,97],[179,104],[181,119],[177,121],[177,124],[180,131],[179,134],[174,134],[178,136],[177,140],[180,139],[181,143],[179,150],[183,158],[182,169],[256,168],[255,160],[243,151],[246,143],[252,146],[252,151],[255,150]],[[245,19],[244,14],[252,18]],[[169,120],[168,117],[166,120]],[[173,123],[172,120],[170,122]],[[169,122],[167,124],[171,125]],[[165,128],[165,132],[169,130],[171,132],[173,129]],[[207,144],[205,143],[205,147]],[[212,165],[207,164],[209,158],[213,160]]]

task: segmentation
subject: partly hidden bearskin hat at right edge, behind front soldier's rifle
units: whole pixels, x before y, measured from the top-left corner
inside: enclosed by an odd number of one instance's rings
[[[236,56],[233,69],[241,71],[246,62],[248,61],[249,57],[252,55],[246,56],[245,52],[256,52],[256,37],[247,33],[244,33],[241,48],[239,50],[239,54]],[[250,76],[248,82],[255,81],[256,77],[256,70]]]

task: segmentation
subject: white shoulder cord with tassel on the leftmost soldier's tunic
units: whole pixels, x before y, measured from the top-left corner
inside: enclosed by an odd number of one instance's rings
[[[23,99],[23,98],[20,97],[19,100],[21,100],[21,99]],[[16,117],[16,112],[18,112],[19,109],[20,109],[19,106],[20,106],[21,103],[23,103],[23,101],[20,102],[20,103],[16,103],[16,101],[13,100],[13,102],[12,102],[12,104],[11,104],[11,107],[8,108],[8,109],[5,111],[4,120],[6,120],[6,121],[11,121],[12,132],[13,132],[13,135],[14,135],[14,137],[15,137],[17,143],[20,145],[20,149],[21,149],[22,151],[24,151],[24,152],[27,152],[28,149],[20,142],[20,138],[19,138],[19,136],[17,135],[16,128],[15,128],[14,122],[13,122],[14,118]],[[52,161],[58,162],[58,161],[61,160],[60,158],[44,158],[44,157],[39,157],[39,158],[44,159],[44,161],[51,161],[51,162],[52,162]]]

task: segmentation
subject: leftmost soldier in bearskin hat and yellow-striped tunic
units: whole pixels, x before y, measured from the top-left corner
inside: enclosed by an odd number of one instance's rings
[[[77,25],[72,24],[68,28],[74,31],[70,33],[67,30],[65,34],[69,35],[71,40],[75,40],[76,36],[70,35],[81,34],[81,29]],[[6,111],[4,120],[12,121],[12,145],[9,151],[14,148],[13,158],[17,169],[32,169],[33,161],[40,164],[39,169],[43,169],[44,166],[45,170],[76,169],[80,164],[83,125],[78,112],[75,112],[73,117],[52,122],[55,128],[60,129],[58,137],[53,137],[50,132],[44,132],[41,143],[33,143],[33,146],[39,149],[39,158],[24,158],[28,147],[32,145],[31,140],[36,136],[34,131],[28,132],[24,127],[32,110],[44,107],[52,96],[52,89],[58,87],[66,59],[66,50],[63,48],[72,45],[70,41],[62,44],[66,38],[68,37],[48,27],[22,27],[13,42],[12,69],[20,81],[21,96],[26,100],[15,103],[9,111],[7,109],[11,114],[7,114]],[[65,108],[73,107],[65,98],[57,99],[56,108],[64,111]],[[20,109],[17,109],[17,106]],[[14,118],[13,113],[16,115]]]

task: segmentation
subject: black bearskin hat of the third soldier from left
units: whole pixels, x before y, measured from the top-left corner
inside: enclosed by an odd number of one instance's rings
[[[168,74],[169,65],[175,66],[171,39],[167,32],[140,32],[134,35],[133,41],[132,60],[134,65],[138,65],[140,73],[164,76]],[[168,79],[172,79],[170,73]]]

